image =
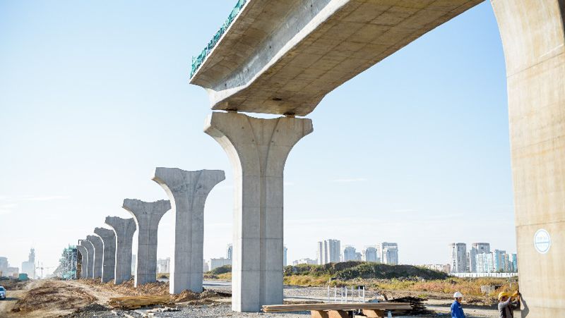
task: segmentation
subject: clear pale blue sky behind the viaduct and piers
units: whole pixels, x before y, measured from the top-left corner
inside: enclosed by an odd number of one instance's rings
[[[206,259],[232,240],[232,169],[202,132],[188,84],[234,1],[0,1],[0,255],[45,266],[124,198],[166,199],[155,166],[223,169]],[[343,111],[345,109],[347,111]],[[489,2],[323,99],[285,169],[288,259],[336,238],[398,242],[400,262],[446,263],[448,243],[516,251],[506,71]],[[162,219],[159,257],[171,249]]]

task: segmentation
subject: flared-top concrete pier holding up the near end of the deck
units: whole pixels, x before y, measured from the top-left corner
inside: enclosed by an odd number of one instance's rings
[[[312,130],[307,118],[208,117],[204,131],[234,169],[232,310],[283,303],[283,171],[290,149]]]

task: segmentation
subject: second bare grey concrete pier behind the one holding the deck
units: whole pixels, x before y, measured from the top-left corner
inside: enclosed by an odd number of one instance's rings
[[[157,281],[157,228],[163,214],[171,209],[171,203],[168,200],[143,202],[126,199],[123,208],[133,215],[137,226],[135,286]]]

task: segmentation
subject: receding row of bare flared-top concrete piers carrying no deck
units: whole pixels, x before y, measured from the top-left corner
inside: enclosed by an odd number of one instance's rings
[[[122,219],[107,216],[105,224],[93,235],[79,240],[81,278],[122,283],[131,279],[133,235],[138,234],[135,286],[157,278],[157,229],[162,216],[174,214],[174,257],[169,279],[170,293],[186,289],[200,293],[203,279],[204,204],[210,190],[225,179],[224,171],[184,171],[157,168],[153,181],[167,192],[169,200],[143,202],[125,199],[122,207],[133,216]]]

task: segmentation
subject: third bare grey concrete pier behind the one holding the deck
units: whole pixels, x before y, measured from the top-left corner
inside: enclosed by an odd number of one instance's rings
[[[106,224],[114,229],[116,235],[116,270],[114,283],[119,284],[131,279],[131,245],[133,233],[136,233],[136,221],[106,216]]]

